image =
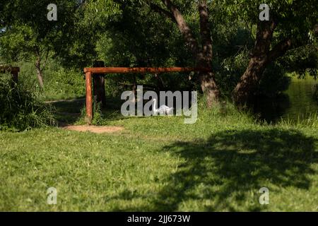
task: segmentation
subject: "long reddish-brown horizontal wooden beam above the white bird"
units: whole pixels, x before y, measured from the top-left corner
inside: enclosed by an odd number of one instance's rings
[[[91,73],[167,73],[167,72],[190,72],[190,71],[211,71],[204,68],[123,68],[123,67],[107,67],[107,68],[85,68],[84,72]]]

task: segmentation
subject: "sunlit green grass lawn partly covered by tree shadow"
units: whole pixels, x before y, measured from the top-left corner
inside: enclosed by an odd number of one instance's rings
[[[108,118],[125,130],[0,132],[0,210],[318,210],[317,124],[260,125],[230,111],[199,112],[192,125]]]

